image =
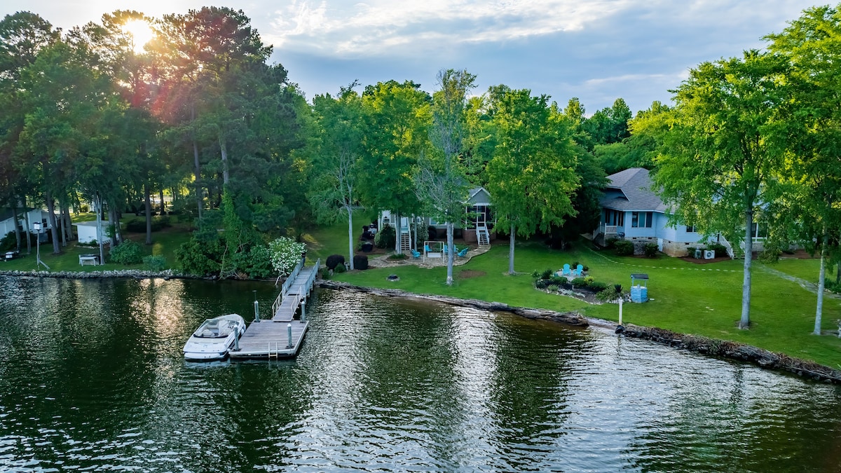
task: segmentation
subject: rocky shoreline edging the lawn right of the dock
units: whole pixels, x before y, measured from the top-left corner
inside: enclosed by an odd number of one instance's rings
[[[509,306],[501,302],[458,299],[456,297],[448,297],[445,295],[419,295],[406,292],[405,290],[374,289],[323,279],[316,281],[315,284],[325,289],[353,290],[373,295],[405,297],[416,300],[432,300],[454,306],[474,307],[485,311],[511,312],[529,319],[560,322],[574,327],[589,327],[590,325],[594,325],[611,331],[616,328],[615,322],[584,317],[578,312],[556,312],[544,309],[527,309],[525,307]],[[812,380],[841,384],[841,371],[838,369],[832,369],[828,366],[807,361],[805,359],[792,358],[783,353],[770,352],[763,348],[754,347],[745,343],[730,342],[727,340],[719,340],[709,337],[699,337],[696,335],[686,335],[664,330],[662,328],[638,327],[630,324],[625,326],[625,330],[622,332],[621,336],[641,338],[656,343],[662,343],[672,348],[718,356],[724,359],[746,361],[765,369],[789,371],[802,377],[811,378]]]

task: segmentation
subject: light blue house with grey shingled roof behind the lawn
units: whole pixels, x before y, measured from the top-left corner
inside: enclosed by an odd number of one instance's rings
[[[669,226],[666,205],[651,190],[648,169],[632,167],[607,177],[610,183],[600,200],[601,219],[593,236],[596,242],[623,238],[635,244],[657,243],[659,251],[685,256],[687,247],[699,247],[701,235],[693,226]]]

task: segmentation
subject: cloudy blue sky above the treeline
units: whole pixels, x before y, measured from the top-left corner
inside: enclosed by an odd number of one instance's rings
[[[271,61],[307,98],[412,80],[432,92],[442,69],[477,76],[475,94],[505,84],[586,114],[623,98],[633,113],[668,103],[691,68],[761,49],[804,8],[796,0],[3,0],[61,29],[134,9],[159,18],[204,5],[241,9]]]

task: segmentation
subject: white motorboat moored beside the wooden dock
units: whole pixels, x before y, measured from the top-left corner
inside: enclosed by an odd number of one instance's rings
[[[236,314],[218,316],[202,323],[184,344],[184,359],[225,359],[235,341],[246,331],[246,321]]]

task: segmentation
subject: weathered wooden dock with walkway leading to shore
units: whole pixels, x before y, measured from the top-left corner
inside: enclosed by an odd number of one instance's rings
[[[313,288],[320,264],[319,259],[315,266],[301,268],[299,264],[295,267],[272,304],[272,318],[251,322],[240,337],[240,349],[231,350],[230,358],[290,358],[298,354],[309,326],[306,298]],[[294,320],[299,306],[301,316]]]

